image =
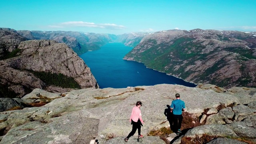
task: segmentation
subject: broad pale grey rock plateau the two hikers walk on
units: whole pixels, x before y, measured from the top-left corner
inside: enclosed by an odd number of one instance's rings
[[[93,139],[99,144],[122,143],[131,130],[130,112],[136,101],[142,102],[145,121],[142,144],[255,143],[256,89],[200,87],[159,84],[86,88],[62,93],[62,96],[35,89],[22,98],[22,102],[40,100],[39,92],[43,97],[54,99],[41,107],[0,112],[0,144],[88,144]],[[170,126],[164,111],[176,93],[186,104],[182,134],[147,136],[152,130]],[[250,102],[246,102],[248,97]],[[136,136],[128,142],[137,143]]]

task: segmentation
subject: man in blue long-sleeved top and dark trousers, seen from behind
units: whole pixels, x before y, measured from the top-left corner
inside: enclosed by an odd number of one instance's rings
[[[181,122],[182,122],[182,111],[185,110],[185,102],[180,100],[180,94],[175,94],[176,100],[172,101],[172,104],[170,106],[171,112],[173,112],[173,127],[174,132],[176,132],[177,135],[181,134],[180,131],[181,128]]]

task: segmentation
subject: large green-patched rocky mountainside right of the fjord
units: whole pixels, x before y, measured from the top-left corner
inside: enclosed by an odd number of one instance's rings
[[[256,87],[254,33],[168,30],[147,35],[124,59],[194,83]]]

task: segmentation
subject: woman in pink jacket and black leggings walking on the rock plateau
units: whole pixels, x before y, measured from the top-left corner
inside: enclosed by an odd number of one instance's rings
[[[141,112],[140,112],[140,107],[142,106],[141,102],[136,102],[136,106],[134,106],[132,108],[132,114],[130,117],[130,122],[132,122],[132,131],[130,132],[130,134],[124,138],[124,141],[128,141],[128,139],[133,136],[138,128],[138,138],[144,138],[144,136],[142,136],[140,134],[140,128],[142,126],[142,124],[144,124],[143,120],[142,120],[142,116],[141,116]],[[141,126],[140,126],[141,125]]]

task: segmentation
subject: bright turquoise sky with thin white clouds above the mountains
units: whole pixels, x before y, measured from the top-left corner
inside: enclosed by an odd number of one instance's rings
[[[256,0],[0,0],[0,27],[109,34],[256,31]]]

